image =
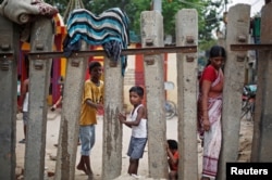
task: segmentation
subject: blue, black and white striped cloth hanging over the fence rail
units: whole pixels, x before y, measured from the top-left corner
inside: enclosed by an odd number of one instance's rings
[[[71,55],[72,51],[81,47],[79,40],[85,40],[88,44],[102,46],[107,56],[112,61],[116,62],[121,57],[122,74],[124,74],[126,56],[121,56],[121,51],[127,49],[129,44],[128,23],[127,15],[119,8],[109,9],[99,15],[85,9],[72,11],[66,24],[64,55]]]

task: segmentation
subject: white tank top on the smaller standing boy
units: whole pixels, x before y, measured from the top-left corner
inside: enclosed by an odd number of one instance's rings
[[[131,112],[131,120],[136,120],[138,115],[138,108],[143,106],[143,104],[138,105],[134,112]],[[133,113],[133,114],[132,114]],[[132,126],[132,136],[134,138],[147,138],[147,119],[141,118],[138,126]]]

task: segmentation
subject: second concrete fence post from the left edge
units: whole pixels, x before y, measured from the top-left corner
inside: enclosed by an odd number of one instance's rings
[[[30,51],[52,51],[53,24],[40,17],[32,27]],[[47,97],[52,60],[29,60],[29,121],[26,130],[25,179],[44,179],[47,132]]]

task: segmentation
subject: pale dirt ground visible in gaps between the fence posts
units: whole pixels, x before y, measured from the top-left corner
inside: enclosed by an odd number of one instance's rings
[[[47,145],[46,145],[46,157],[45,157],[45,179],[53,179],[53,177],[48,177],[48,172],[54,172],[55,160],[52,160],[50,156],[57,155],[57,147],[53,145],[58,142],[59,128],[60,128],[60,110],[55,112],[48,113],[48,121],[47,121]],[[24,167],[24,154],[25,154],[25,144],[18,143],[18,141],[23,138],[23,120],[22,114],[17,115],[16,121],[16,164],[18,173]],[[127,127],[123,128],[123,160],[122,160],[122,173],[118,180],[129,180],[134,179],[127,176],[127,167],[128,167],[128,157],[126,156],[126,150],[128,146],[131,137],[131,129]],[[177,139],[177,118],[174,117],[170,120],[166,120],[166,138],[168,139]],[[240,126],[240,146],[239,146],[239,162],[249,162],[250,159],[250,151],[251,151],[251,139],[252,139],[252,123],[247,120],[242,120]],[[95,152],[96,156],[90,155],[91,167],[95,173],[95,180],[101,179],[101,165],[102,165],[102,117],[98,117],[98,125],[96,127],[96,144],[94,146],[92,152]],[[139,162],[138,175],[143,178],[148,179],[148,153],[147,147],[145,150],[144,158]],[[76,164],[79,162],[79,152],[81,146],[77,149],[77,159]],[[199,158],[199,173],[201,172],[201,154],[202,149],[200,144],[198,144],[198,158]],[[21,175],[18,179],[23,179]],[[83,171],[75,170],[75,180],[87,180],[87,176],[83,173]]]

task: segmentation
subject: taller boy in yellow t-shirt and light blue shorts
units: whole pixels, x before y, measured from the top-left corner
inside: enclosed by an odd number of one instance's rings
[[[79,138],[82,142],[81,160],[76,168],[88,175],[89,179],[94,178],[90,167],[90,151],[96,140],[97,111],[102,110],[103,100],[103,81],[100,80],[102,75],[102,65],[99,62],[91,62],[89,65],[90,79],[84,85],[82,99],[82,111],[79,120]]]

